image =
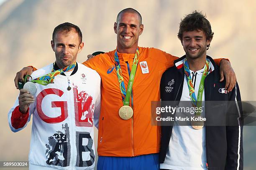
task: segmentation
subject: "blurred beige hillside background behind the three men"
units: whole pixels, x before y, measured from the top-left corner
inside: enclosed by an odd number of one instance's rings
[[[16,72],[27,65],[37,68],[54,62],[51,36],[60,23],[79,26],[85,47],[78,62],[95,51],[114,50],[113,25],[120,10],[133,7],[144,24],[139,46],[156,47],[181,57],[184,51],[177,38],[179,22],[193,10],[207,14],[214,32],[207,55],[229,58],[236,72],[242,100],[256,100],[253,65],[256,64],[256,1],[253,0],[0,0],[0,161],[28,160],[31,123],[13,133],[8,126],[8,110],[19,90]],[[157,56],[156,56],[157,57]],[[255,170],[255,126],[244,127],[244,169]],[[97,144],[97,130],[95,130]]]

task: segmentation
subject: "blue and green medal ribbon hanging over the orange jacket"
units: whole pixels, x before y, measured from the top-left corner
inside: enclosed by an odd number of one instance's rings
[[[118,53],[117,53],[117,50],[115,50],[115,69],[116,69],[116,72],[117,72],[118,83],[119,83],[119,86],[120,86],[120,92],[121,92],[121,96],[122,96],[122,100],[123,100],[123,105],[129,105],[129,103],[130,103],[131,91],[132,91],[132,87],[133,87],[135,73],[136,73],[137,66],[138,66],[139,54],[140,53],[139,53],[139,50],[137,48],[134,59],[133,59],[133,66],[132,66],[131,74],[130,74],[130,77],[129,77],[127,91],[126,91],[125,90],[125,84],[123,82],[123,74],[122,74],[122,70],[121,70],[121,67],[120,67],[120,61],[119,61],[119,58],[118,58]]]

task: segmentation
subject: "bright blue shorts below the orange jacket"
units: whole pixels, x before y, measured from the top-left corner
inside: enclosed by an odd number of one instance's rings
[[[99,156],[97,170],[159,170],[159,154],[134,157]]]

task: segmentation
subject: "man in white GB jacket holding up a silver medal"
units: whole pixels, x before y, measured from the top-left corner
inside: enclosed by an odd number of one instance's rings
[[[25,128],[33,114],[30,169],[95,166],[93,124],[97,127],[100,114],[100,75],[76,62],[83,46],[79,27],[58,25],[51,40],[56,62],[32,73],[30,84],[24,85],[27,90],[20,90],[8,113],[13,132]]]

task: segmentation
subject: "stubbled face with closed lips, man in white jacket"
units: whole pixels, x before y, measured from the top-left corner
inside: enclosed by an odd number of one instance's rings
[[[82,50],[83,46],[84,43],[80,43],[79,36],[74,29],[69,32],[58,31],[54,40],[51,41],[58,67],[64,68],[76,62],[77,53]]]

